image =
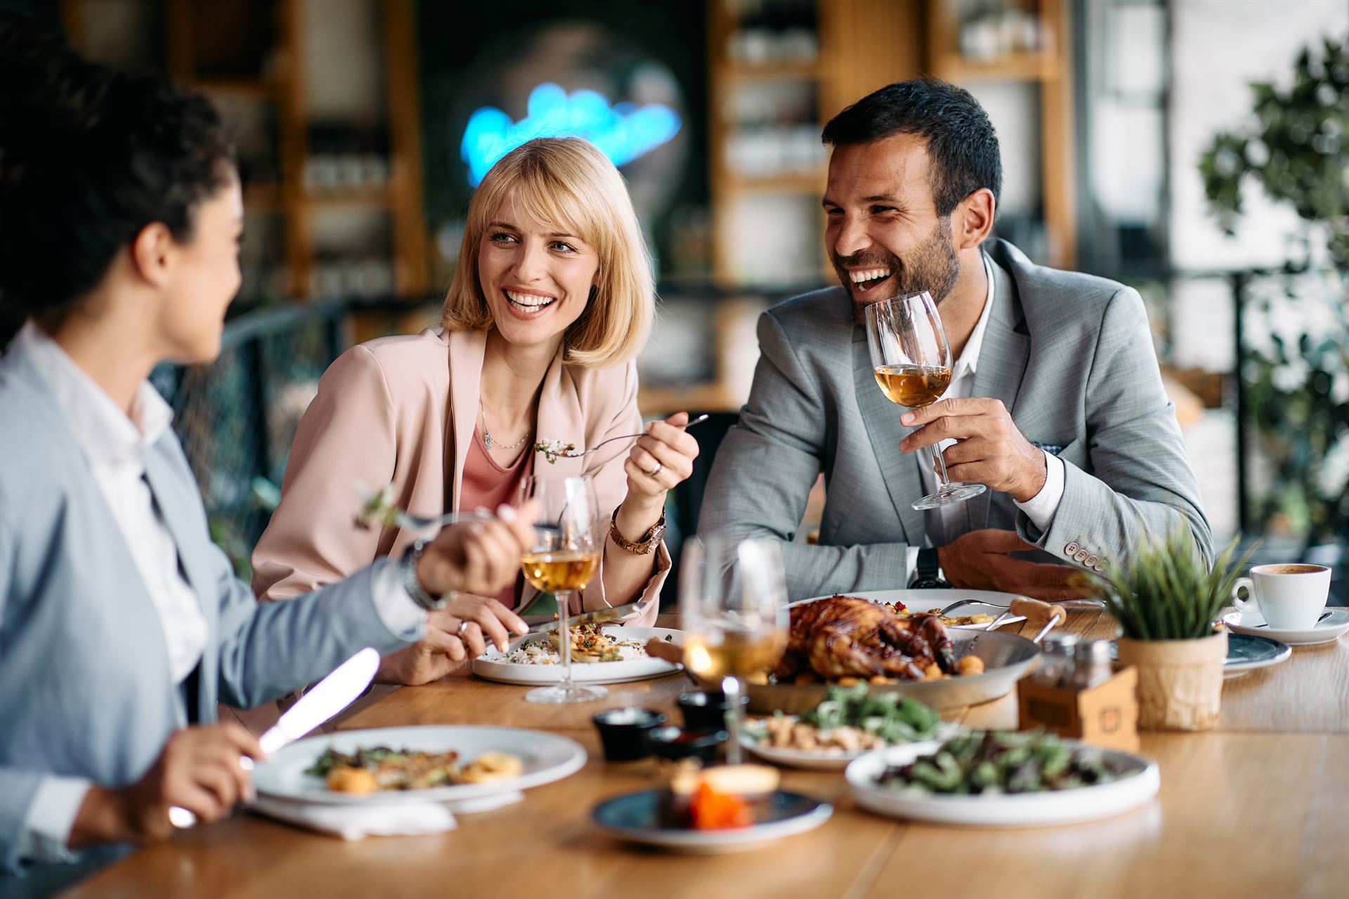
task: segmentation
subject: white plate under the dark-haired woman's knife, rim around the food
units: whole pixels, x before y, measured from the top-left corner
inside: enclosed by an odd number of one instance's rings
[[[509,752],[525,763],[518,778],[490,783],[460,783],[426,790],[379,790],[370,794],[333,793],[324,779],[305,774],[329,747],[339,752],[357,748],[424,749],[459,753],[472,762],[484,752]],[[339,731],[291,743],[254,766],[252,780],[259,795],[321,805],[387,805],[393,802],[449,802],[513,793],[561,780],[585,764],[585,749],[575,740],[522,728],[479,728],[471,725],[371,728]]]

